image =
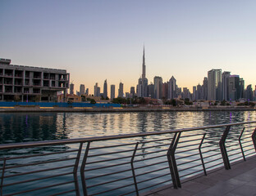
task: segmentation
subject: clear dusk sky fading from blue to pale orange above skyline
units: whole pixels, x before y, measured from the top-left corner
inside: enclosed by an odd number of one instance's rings
[[[94,94],[146,77],[203,83],[222,69],[256,84],[256,1],[240,0],[1,0],[0,58],[13,65],[66,69],[79,91]]]

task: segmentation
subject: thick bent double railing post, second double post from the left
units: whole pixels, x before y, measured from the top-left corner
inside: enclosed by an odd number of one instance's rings
[[[179,171],[178,171],[176,159],[175,159],[175,151],[176,151],[176,147],[178,145],[180,136],[181,136],[181,132],[179,132],[178,134],[175,133],[174,137],[171,140],[171,145],[167,151],[167,158],[168,158],[168,163],[171,171],[171,180],[172,180],[173,187],[175,189],[178,189],[179,187],[181,188],[181,180],[180,180]]]

